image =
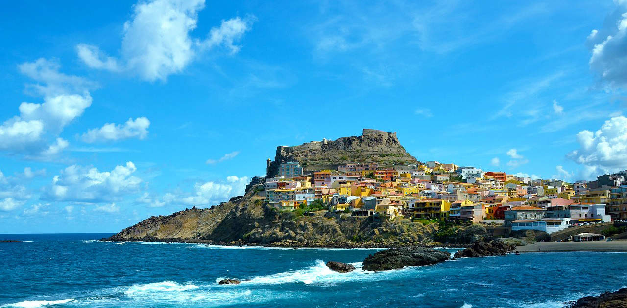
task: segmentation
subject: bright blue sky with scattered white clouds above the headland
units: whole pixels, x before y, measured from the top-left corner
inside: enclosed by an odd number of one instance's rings
[[[627,1],[419,2],[6,3],[0,234],[209,207],[362,128],[421,162],[627,169]]]

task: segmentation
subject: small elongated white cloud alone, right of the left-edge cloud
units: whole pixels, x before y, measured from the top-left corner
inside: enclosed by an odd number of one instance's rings
[[[115,123],[106,123],[101,128],[93,128],[88,130],[82,136],[83,141],[87,143],[116,141],[129,138],[144,139],[148,135],[148,126],[150,121],[147,118],[129,118],[124,125]]]

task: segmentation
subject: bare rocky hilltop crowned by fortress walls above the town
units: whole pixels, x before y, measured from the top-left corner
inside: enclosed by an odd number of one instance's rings
[[[275,159],[268,165],[267,177],[277,175],[280,165],[287,162],[300,162],[303,170],[310,172],[336,169],[350,162],[393,165],[416,164],[418,160],[405,151],[396,133],[364,128],[361,136],[277,146]]]

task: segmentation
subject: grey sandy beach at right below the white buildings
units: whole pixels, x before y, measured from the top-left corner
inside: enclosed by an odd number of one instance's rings
[[[627,240],[594,242],[537,242],[517,247],[519,252],[606,251],[627,252]]]

